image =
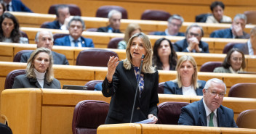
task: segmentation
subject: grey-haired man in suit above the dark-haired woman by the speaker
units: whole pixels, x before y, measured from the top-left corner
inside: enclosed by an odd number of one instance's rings
[[[183,17],[178,14],[173,14],[168,19],[167,29],[164,32],[155,32],[153,35],[185,36],[184,33],[179,32],[183,22]]]

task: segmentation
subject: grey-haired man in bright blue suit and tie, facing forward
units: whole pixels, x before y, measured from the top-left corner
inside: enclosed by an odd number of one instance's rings
[[[69,35],[55,40],[56,46],[73,46],[73,47],[95,47],[91,38],[81,36],[85,29],[84,21],[81,17],[75,16],[68,22]]]

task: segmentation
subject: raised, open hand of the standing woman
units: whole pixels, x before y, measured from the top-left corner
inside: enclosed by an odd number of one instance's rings
[[[107,72],[107,79],[108,82],[111,83],[113,79],[113,74],[116,71],[116,67],[119,64],[119,58],[116,56],[110,56],[108,60],[108,72]]]

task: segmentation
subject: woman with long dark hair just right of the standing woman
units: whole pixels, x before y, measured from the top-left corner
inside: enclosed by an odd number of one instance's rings
[[[175,70],[177,54],[172,42],[167,38],[159,38],[153,46],[153,65],[157,70]]]

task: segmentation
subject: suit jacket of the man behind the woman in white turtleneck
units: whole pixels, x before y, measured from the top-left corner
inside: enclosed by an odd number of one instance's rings
[[[24,53],[21,55],[20,62],[28,62],[31,57],[32,52]],[[68,64],[68,60],[63,54],[56,53],[52,51],[53,64]]]

